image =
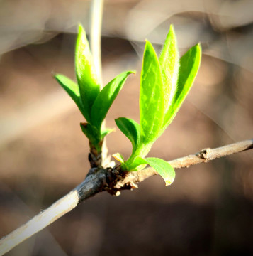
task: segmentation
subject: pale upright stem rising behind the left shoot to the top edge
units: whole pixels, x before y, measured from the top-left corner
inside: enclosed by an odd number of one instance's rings
[[[94,65],[99,82],[102,85],[101,72],[101,28],[103,16],[103,0],[91,1],[91,53],[94,58]]]

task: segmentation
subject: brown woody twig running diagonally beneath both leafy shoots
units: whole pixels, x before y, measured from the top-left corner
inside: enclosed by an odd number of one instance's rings
[[[195,164],[206,163],[213,159],[252,148],[253,139],[249,139],[216,149],[203,149],[196,154],[169,161],[169,164],[171,164],[174,169],[180,169]],[[114,194],[118,195],[120,190],[134,188],[136,187],[136,183],[142,182],[146,178],[156,174],[156,171],[152,168],[124,174],[118,173],[117,169],[91,169],[85,180],[79,184],[79,186],[53,203],[47,210],[44,210],[33,219],[29,220],[28,223],[2,238],[0,240],[0,255],[9,252],[13,247],[23,242],[31,235],[38,233],[38,231],[74,209],[81,201],[94,196],[96,193],[101,191],[113,191]],[[113,177],[114,179],[111,180]]]

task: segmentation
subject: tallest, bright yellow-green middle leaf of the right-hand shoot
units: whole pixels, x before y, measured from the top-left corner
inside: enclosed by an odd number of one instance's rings
[[[176,45],[176,35],[172,25],[169,28],[169,33],[159,56],[159,64],[164,85],[165,112],[167,112],[176,92],[176,82],[179,73],[179,50]]]

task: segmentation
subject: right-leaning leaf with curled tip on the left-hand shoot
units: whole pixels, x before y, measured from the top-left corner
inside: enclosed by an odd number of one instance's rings
[[[106,114],[113,104],[118,92],[122,89],[124,82],[128,75],[134,73],[133,71],[123,72],[116,76],[111,82],[109,82],[103,90],[99,92],[96,97],[94,105],[91,109],[91,123],[100,129],[103,119],[105,119]]]

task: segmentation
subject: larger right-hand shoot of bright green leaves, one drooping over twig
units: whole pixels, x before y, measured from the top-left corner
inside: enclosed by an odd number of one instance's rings
[[[193,85],[200,62],[199,44],[179,60],[173,26],[169,29],[159,58],[152,44],[146,42],[140,78],[140,124],[123,117],[116,119],[118,128],[133,145],[132,154],[127,161],[120,154],[113,155],[122,163],[123,169],[137,171],[149,164],[164,178],[166,185],[174,181],[174,169],[167,161],[145,156],[174,119]]]

